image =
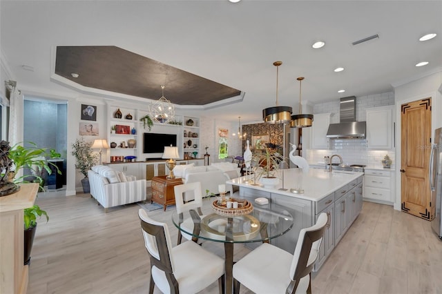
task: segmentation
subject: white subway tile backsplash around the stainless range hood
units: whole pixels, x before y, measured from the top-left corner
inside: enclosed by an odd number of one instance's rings
[[[385,92],[376,95],[367,95],[356,98],[356,120],[365,121],[365,108],[394,105],[394,92]],[[332,112],[330,122],[339,122],[339,99],[336,101],[316,104],[314,114]],[[345,164],[365,164],[366,166],[382,166],[382,159],[388,155],[392,159],[392,168],[395,166],[394,150],[367,149],[365,139],[329,139],[330,148],[327,150],[305,150],[305,156],[310,164],[323,163],[325,156],[338,154],[343,157]],[[334,159],[333,162],[338,162]]]

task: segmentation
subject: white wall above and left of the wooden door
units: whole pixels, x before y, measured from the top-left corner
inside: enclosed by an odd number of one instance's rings
[[[427,77],[410,81],[408,83],[396,86],[394,93],[396,97],[396,162],[401,162],[401,104],[416,101],[423,98],[432,98],[432,134],[434,129],[442,127],[442,95],[440,89],[442,86],[442,71],[436,72]],[[401,168],[396,168],[396,201],[394,209],[401,210]]]

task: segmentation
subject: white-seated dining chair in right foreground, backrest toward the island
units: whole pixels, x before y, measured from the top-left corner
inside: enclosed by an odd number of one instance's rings
[[[254,293],[311,293],[311,269],[318,257],[328,217],[302,228],[293,255],[263,243],[233,265],[234,293],[244,285]]]

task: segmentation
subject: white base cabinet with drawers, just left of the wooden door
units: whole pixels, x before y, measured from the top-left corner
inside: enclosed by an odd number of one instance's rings
[[[365,169],[364,200],[392,205],[393,189],[394,178],[390,170]]]

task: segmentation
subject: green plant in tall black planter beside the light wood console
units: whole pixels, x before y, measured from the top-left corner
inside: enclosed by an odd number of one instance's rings
[[[29,264],[30,262],[30,251],[32,250],[32,244],[34,243],[35,231],[37,230],[37,217],[44,215],[46,217],[46,222],[48,222],[48,213],[45,210],[41,210],[38,205],[34,205],[30,208],[24,209],[24,264]]]

